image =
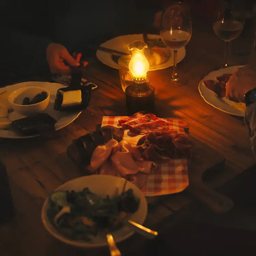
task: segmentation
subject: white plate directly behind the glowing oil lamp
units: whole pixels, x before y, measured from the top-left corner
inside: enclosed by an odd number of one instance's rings
[[[150,39],[157,38],[158,39],[161,37],[160,37],[160,35],[148,35],[148,38],[150,38]],[[118,36],[118,37],[115,37],[115,38],[101,44],[100,46],[130,54],[128,51],[127,45],[135,40],[143,41],[143,34]],[[186,55],[185,47],[180,48],[177,53],[177,63],[182,61],[185,58],[185,55]],[[118,64],[112,60],[111,53],[97,50],[96,57],[98,58],[98,60],[100,60],[105,65],[118,69]],[[173,52],[172,52],[171,58],[168,61],[166,61],[165,63],[163,63],[161,65],[149,67],[149,71],[164,69],[164,68],[171,67],[171,66],[173,66]]]

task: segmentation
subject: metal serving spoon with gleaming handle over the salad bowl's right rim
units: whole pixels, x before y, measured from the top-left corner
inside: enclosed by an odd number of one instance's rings
[[[88,194],[86,195],[87,200],[90,202],[91,205],[96,204],[99,201],[99,196],[95,195],[95,194]],[[94,215],[96,216],[107,216],[107,215],[111,215],[113,218],[117,219],[118,221],[122,222],[124,225],[130,227],[134,232],[137,232],[149,239],[155,238],[158,233],[156,231],[153,231],[149,228],[146,228],[134,221],[131,220],[127,220],[127,219],[123,219],[119,216],[116,216],[114,214],[112,214],[111,212],[109,212],[108,209],[102,209],[102,210],[97,210],[94,212]]]

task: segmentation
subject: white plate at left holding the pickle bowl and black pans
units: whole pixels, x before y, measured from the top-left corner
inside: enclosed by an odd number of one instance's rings
[[[17,83],[13,85],[6,86],[4,88],[0,88],[0,93],[3,91],[13,92],[14,90],[17,90],[21,87],[25,86],[40,86],[44,87],[50,92],[50,102],[44,113],[49,114],[53,118],[57,120],[57,123],[55,124],[55,129],[59,130],[61,128],[64,128],[65,126],[69,125],[71,122],[73,122],[81,112],[60,112],[53,109],[54,101],[56,97],[56,93],[58,89],[65,87],[62,84],[59,83],[49,83],[49,82],[24,82],[24,83]],[[17,112],[13,111],[9,113],[8,118],[11,119],[11,121],[24,118],[26,116],[22,116],[18,114]],[[32,136],[25,136],[20,133],[17,133],[13,129],[8,130],[1,130],[0,129],[0,138],[10,138],[10,139],[22,139],[22,138],[32,138],[37,137],[38,135],[32,135]]]

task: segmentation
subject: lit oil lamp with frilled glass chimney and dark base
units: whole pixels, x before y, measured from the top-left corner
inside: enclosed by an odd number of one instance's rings
[[[127,47],[132,53],[129,70],[133,76],[133,83],[125,89],[129,115],[139,111],[152,112],[155,106],[155,88],[146,81],[149,63],[144,51],[147,44],[134,41]]]

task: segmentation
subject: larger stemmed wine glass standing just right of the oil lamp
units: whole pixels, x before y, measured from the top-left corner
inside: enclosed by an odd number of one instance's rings
[[[174,2],[162,14],[160,36],[163,43],[173,49],[173,74],[163,80],[167,86],[177,87],[188,83],[188,79],[177,74],[177,51],[189,42],[192,35],[191,15],[186,3]]]

